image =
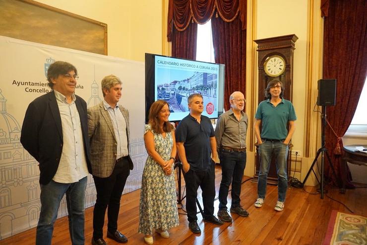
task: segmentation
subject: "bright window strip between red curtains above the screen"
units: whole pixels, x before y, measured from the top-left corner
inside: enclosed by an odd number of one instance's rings
[[[197,25],[196,60],[215,63],[211,20]]]

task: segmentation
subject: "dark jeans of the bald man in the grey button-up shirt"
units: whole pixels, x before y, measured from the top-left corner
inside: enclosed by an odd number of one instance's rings
[[[232,205],[240,206],[241,183],[246,166],[246,152],[221,149],[222,181],[219,187],[219,209],[227,210],[227,196],[232,182]]]

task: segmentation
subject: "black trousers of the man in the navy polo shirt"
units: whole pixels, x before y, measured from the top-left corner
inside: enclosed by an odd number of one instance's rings
[[[186,184],[186,212],[188,222],[196,221],[197,189],[202,190],[204,217],[210,218],[214,213],[215,198],[215,163],[211,163],[206,171],[193,171],[189,169],[183,176]]]

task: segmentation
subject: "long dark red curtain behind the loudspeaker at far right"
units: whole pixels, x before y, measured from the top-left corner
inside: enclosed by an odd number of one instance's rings
[[[336,79],[336,105],[327,106],[327,119],[335,133],[347,131],[367,75],[367,2],[366,0],[328,0],[328,16],[324,21],[323,78]],[[333,153],[337,137],[330,127],[325,130],[326,148],[336,170],[336,177],[353,188],[351,176],[342,171],[341,155]],[[328,161],[325,173],[331,176]],[[336,182],[335,182],[336,183]]]

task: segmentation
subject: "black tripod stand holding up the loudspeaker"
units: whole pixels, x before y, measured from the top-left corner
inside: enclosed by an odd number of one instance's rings
[[[341,188],[340,181],[336,177],[334,166],[333,166],[333,164],[331,162],[331,158],[329,156],[329,153],[327,151],[327,148],[325,147],[326,105],[322,105],[321,122],[322,122],[321,123],[322,124],[322,127],[321,127],[321,148],[317,150],[316,157],[313,160],[313,163],[310,166],[310,168],[309,168],[309,170],[307,172],[307,175],[306,175],[304,181],[302,182],[302,185],[305,186],[305,183],[306,183],[306,180],[308,178],[308,175],[312,171],[313,174],[315,175],[316,179],[317,179],[317,182],[319,182],[319,184],[320,184],[321,199],[324,199],[324,155],[326,155],[327,160],[329,161],[329,166],[330,166],[330,168],[332,170],[332,173],[333,173],[335,179],[337,179],[337,181],[338,181],[339,188]],[[318,181],[317,175],[316,175],[315,171],[313,171],[313,166],[317,162],[317,159],[318,159],[318,157],[319,157],[320,154],[321,154],[321,176],[320,176],[320,181]]]

